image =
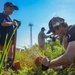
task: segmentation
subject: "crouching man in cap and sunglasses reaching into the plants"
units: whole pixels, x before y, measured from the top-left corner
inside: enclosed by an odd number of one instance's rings
[[[49,29],[48,33],[52,32],[54,35],[64,39],[63,44],[66,50],[63,55],[51,61],[42,56],[39,62],[48,68],[55,68],[61,65],[68,67],[71,64],[75,64],[75,26],[68,26],[61,17],[53,17],[49,21]]]

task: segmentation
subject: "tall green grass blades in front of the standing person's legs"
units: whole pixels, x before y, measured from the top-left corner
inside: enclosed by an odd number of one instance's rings
[[[1,56],[0,56],[0,74],[2,72],[2,68],[4,66],[5,60],[7,61],[8,52],[10,50],[9,48],[10,48],[10,46],[12,44],[12,38],[15,35],[16,30],[17,30],[18,27],[19,27],[19,25],[16,26],[16,28],[14,29],[14,31],[13,31],[13,33],[12,33],[12,35],[11,35],[9,41],[8,41],[8,43],[7,43],[8,34],[6,34],[6,39],[5,39],[4,47],[2,49],[2,53],[1,53]]]

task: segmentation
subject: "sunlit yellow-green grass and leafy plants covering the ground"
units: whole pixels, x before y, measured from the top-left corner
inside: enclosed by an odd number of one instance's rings
[[[49,59],[54,59],[64,53],[64,48],[57,40],[55,43],[47,44],[46,51],[40,51],[38,45],[34,45],[31,49],[25,48],[23,52],[16,52],[15,62],[20,62],[22,70],[18,70],[18,74],[9,69],[8,71],[1,70],[2,75],[75,75],[74,68],[65,68],[64,70],[48,69],[42,71],[41,66],[36,67],[34,64],[38,56],[47,56]]]

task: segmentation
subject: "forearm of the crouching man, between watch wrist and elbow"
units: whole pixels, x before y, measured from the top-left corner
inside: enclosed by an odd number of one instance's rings
[[[56,59],[51,60],[51,62],[49,63],[49,68],[55,68],[61,65],[66,66],[67,64],[71,64],[71,62],[68,59],[68,56],[64,54]]]

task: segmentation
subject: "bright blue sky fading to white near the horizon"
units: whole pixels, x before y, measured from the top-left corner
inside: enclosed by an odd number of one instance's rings
[[[30,27],[32,26],[32,44],[38,43],[41,27],[48,31],[48,22],[52,17],[60,16],[69,25],[75,24],[75,0],[0,0],[0,12],[4,4],[12,2],[19,7],[10,17],[22,22],[17,31],[17,47],[30,46]]]

